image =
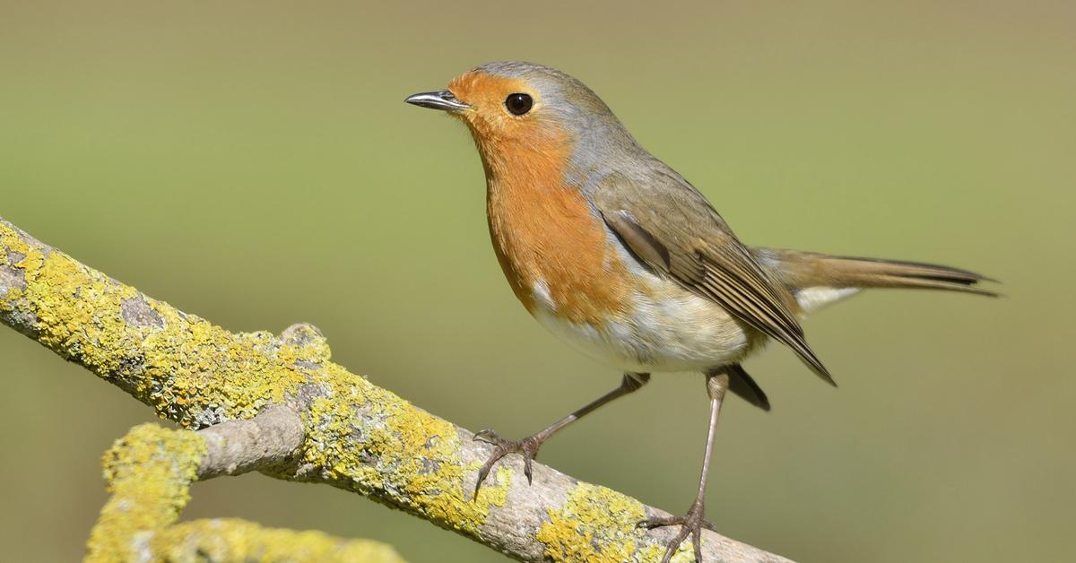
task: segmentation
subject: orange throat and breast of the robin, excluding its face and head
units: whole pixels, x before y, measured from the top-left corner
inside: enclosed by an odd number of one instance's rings
[[[480,146],[490,235],[512,291],[532,313],[535,287],[544,284],[558,318],[596,326],[622,318],[629,272],[579,189],[564,185],[567,143],[529,141]]]

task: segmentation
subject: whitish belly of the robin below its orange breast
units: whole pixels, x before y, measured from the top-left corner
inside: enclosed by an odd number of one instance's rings
[[[586,355],[625,371],[702,371],[744,360],[764,337],[720,306],[674,282],[647,275],[633,310],[603,326],[556,316],[544,284],[534,287],[535,318]]]

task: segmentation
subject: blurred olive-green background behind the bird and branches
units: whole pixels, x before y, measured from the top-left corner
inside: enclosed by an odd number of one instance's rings
[[[756,244],[933,261],[1008,297],[876,292],[807,323],[840,383],[748,364],[708,515],[803,561],[1071,557],[1076,4],[1058,2],[0,3],[0,216],[232,330],[308,321],[335,360],[477,430],[529,434],[619,374],[502,280],[464,128],[402,103],[526,59],[593,87]],[[72,561],[99,458],[146,407],[0,329],[0,545]],[[541,461],[681,512],[699,377],[557,436]],[[324,485],[198,484],[242,517],[500,555]]]

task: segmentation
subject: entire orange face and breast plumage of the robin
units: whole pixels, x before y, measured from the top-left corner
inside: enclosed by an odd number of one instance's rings
[[[449,89],[471,105],[458,115],[482,155],[490,236],[516,297],[533,313],[534,290],[544,284],[562,319],[600,326],[622,316],[632,280],[600,219],[577,186],[565,185],[568,132],[542,119],[541,100],[523,81],[468,72]],[[514,93],[535,98],[530,113],[506,111]]]

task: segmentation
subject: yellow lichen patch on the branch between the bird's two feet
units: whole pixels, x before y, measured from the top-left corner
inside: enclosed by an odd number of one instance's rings
[[[549,510],[550,521],[536,537],[553,561],[650,561],[654,550],[637,547],[641,533],[636,523],[643,517],[638,501],[581,482],[568,493],[561,509]]]

